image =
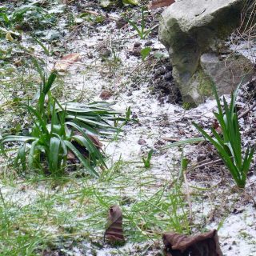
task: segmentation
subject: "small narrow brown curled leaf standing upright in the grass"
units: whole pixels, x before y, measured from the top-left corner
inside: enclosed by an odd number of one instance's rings
[[[122,232],[122,209],[117,205],[110,206],[104,239],[110,243],[125,241]]]

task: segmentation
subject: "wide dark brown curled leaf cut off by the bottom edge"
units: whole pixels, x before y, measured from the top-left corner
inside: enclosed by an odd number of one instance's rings
[[[187,236],[178,233],[162,235],[166,256],[222,256],[217,230]]]

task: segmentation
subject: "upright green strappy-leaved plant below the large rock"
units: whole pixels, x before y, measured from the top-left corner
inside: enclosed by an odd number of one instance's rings
[[[238,88],[231,94],[230,106],[227,104],[226,98],[223,97],[224,107],[222,110],[217,90],[213,86],[214,96],[218,104],[218,113],[215,112],[214,115],[221,127],[222,134],[218,134],[214,128],[211,128],[213,134],[213,137],[211,137],[210,134],[207,134],[205,130],[202,130],[198,124],[193,124],[206,140],[214,145],[218,151],[218,155],[222,158],[228,170],[230,170],[230,174],[238,187],[244,188],[246,186],[246,176],[250,169],[250,162],[254,156],[254,149],[250,149],[248,146],[246,153],[242,153],[238,114],[235,109]]]

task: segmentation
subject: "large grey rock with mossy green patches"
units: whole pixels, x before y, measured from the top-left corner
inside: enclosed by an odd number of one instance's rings
[[[162,14],[159,38],[169,51],[174,80],[185,102],[203,102],[211,83],[226,94],[238,82],[233,68],[239,67],[240,77],[244,58],[234,59],[234,65],[230,60],[228,67],[219,58],[222,39],[238,27],[242,7],[242,0],[182,0]]]

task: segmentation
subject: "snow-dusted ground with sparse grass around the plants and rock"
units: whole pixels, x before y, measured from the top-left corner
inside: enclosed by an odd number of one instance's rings
[[[10,165],[10,154],[2,156],[0,254],[162,255],[165,231],[199,234],[218,229],[224,255],[256,255],[255,163],[245,190],[238,190],[225,166],[200,164],[218,158],[210,144],[168,147],[200,136],[192,122],[210,130],[216,102],[206,99],[194,109],[182,102],[168,54],[158,42],[162,10],[146,14],[146,30],[152,30],[140,38],[126,20],[141,27],[141,7],[104,10],[94,1],[42,2],[45,21],[32,19],[17,38],[13,34],[14,40],[1,39],[1,134],[28,129],[19,103],[38,90],[33,58],[50,72],[63,55],[73,53],[79,58],[60,72],[55,97],[78,102],[103,98],[124,114],[130,108],[133,120],[112,139],[102,138],[108,169],[99,170],[98,179],[79,168],[58,179],[22,173]],[[15,1],[8,7],[16,10],[20,5]],[[35,22],[42,27],[36,30]],[[255,90],[255,82],[241,87],[241,113],[255,102]],[[243,146],[255,146],[255,110],[239,122]],[[146,168],[142,158],[152,149]],[[182,159],[188,162],[185,179]],[[114,204],[122,208],[124,246],[104,242],[107,211]]]

